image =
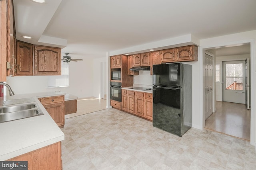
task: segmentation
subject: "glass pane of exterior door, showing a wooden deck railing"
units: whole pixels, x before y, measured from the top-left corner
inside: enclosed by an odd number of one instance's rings
[[[243,64],[226,64],[226,89],[243,90]]]

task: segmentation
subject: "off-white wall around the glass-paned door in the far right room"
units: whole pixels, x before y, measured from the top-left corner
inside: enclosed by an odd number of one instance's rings
[[[222,101],[222,61],[237,61],[237,60],[246,60],[249,58],[250,63],[250,54],[247,55],[229,55],[229,56],[219,56],[215,57],[215,64],[220,64],[220,82],[216,82],[216,100]],[[250,68],[250,66],[249,66]],[[245,94],[244,94],[245,96]]]

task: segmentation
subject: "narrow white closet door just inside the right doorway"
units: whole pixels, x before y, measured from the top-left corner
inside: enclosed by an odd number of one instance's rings
[[[205,54],[204,58],[205,71],[205,119],[213,112],[213,57]]]

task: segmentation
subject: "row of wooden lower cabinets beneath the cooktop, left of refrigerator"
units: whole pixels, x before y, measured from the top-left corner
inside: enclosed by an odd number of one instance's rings
[[[152,93],[122,90],[122,110],[152,120],[153,95]]]

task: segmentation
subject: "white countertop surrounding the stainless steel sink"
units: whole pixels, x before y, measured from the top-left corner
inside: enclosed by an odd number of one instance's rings
[[[40,97],[65,95],[63,92],[45,92],[6,96],[5,100],[34,98],[44,115],[28,117],[0,123],[0,160],[7,160],[15,156],[46,147],[64,140],[64,133],[39,102]],[[4,97],[0,97],[3,104]]]

